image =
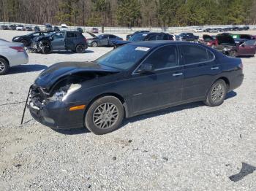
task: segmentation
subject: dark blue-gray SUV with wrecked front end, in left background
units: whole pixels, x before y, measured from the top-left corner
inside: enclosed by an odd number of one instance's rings
[[[36,36],[31,42],[31,50],[48,54],[53,50],[72,50],[83,53],[87,49],[86,38],[78,31],[53,32],[46,36]]]

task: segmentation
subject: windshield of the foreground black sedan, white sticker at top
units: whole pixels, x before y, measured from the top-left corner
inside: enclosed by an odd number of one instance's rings
[[[95,62],[115,69],[127,70],[135,65],[149,51],[148,47],[125,45],[108,52]]]

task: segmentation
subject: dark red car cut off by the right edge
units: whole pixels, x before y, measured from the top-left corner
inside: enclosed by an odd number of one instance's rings
[[[236,44],[236,47],[233,47],[230,50],[229,55],[232,57],[249,55],[254,56],[256,51],[256,40],[248,40],[246,42],[241,42]]]

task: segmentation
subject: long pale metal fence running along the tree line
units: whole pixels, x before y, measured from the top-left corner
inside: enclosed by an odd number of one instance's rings
[[[44,30],[45,26],[43,25],[35,25],[35,24],[28,24],[28,23],[9,23],[9,22],[0,22],[0,25],[10,26],[10,25],[23,25],[23,26],[31,26],[34,28],[34,26],[38,26],[40,30]],[[61,28],[61,26],[58,26]],[[152,31],[152,32],[166,32],[166,33],[180,33],[180,32],[192,32],[196,28],[227,28],[227,27],[234,27],[234,26],[185,26],[185,27],[133,27],[133,28],[127,28],[127,27],[100,27],[100,26],[68,26],[68,30],[76,30],[76,28],[82,28],[83,31],[91,31],[92,28],[97,28],[99,30],[99,33],[102,33],[102,29],[104,30],[104,33],[110,33],[110,34],[130,34],[135,31]],[[238,26],[243,27],[243,26]],[[249,26],[250,29],[256,29],[256,26]]]

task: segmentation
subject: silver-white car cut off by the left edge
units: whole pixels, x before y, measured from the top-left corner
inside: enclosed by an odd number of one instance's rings
[[[22,43],[8,42],[0,39],[0,75],[6,74],[12,66],[28,62],[29,56],[24,50]]]

